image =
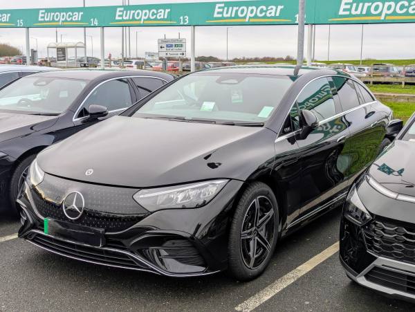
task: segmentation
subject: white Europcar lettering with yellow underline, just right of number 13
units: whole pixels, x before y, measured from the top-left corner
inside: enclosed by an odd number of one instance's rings
[[[260,2],[260,1],[259,1]],[[284,6],[232,6],[232,3],[216,4],[213,17],[226,17],[215,19],[206,23],[235,22],[235,21],[291,21],[291,19],[275,19],[284,9]]]

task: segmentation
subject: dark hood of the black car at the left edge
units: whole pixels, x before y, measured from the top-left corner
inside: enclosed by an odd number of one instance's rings
[[[0,113],[0,142],[52,127],[56,120],[57,116]]]

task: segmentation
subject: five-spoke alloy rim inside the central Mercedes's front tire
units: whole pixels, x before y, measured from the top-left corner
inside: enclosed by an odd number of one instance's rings
[[[241,254],[248,268],[258,268],[270,253],[274,224],[273,204],[266,196],[258,196],[246,210],[241,228]]]

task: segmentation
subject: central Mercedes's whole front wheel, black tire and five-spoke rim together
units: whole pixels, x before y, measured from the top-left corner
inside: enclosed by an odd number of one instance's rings
[[[230,275],[247,281],[264,272],[277,244],[278,220],[278,205],[273,190],[261,182],[250,184],[239,199],[230,227]],[[252,250],[255,250],[253,257]]]

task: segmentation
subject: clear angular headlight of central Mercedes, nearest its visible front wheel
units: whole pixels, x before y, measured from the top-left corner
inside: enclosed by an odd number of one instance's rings
[[[212,180],[185,185],[143,189],[133,199],[149,211],[172,208],[199,208],[221,192],[229,180]]]

